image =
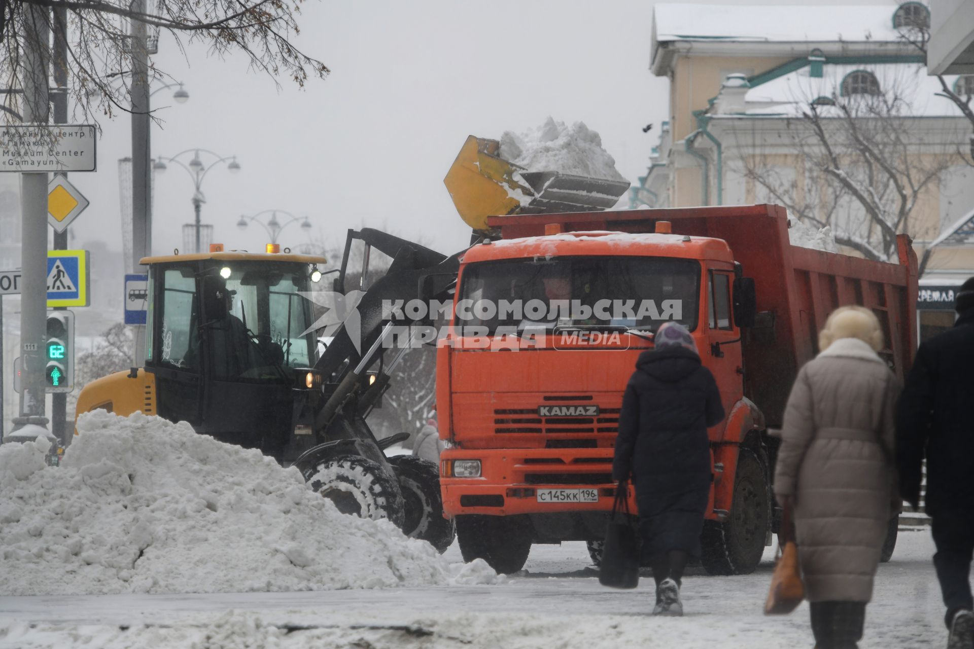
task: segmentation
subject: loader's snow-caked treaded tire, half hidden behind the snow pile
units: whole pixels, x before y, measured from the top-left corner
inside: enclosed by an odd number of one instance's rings
[[[328,498],[342,514],[362,519],[389,519],[402,526],[402,493],[395,476],[359,455],[339,455],[305,471],[305,482]]]

